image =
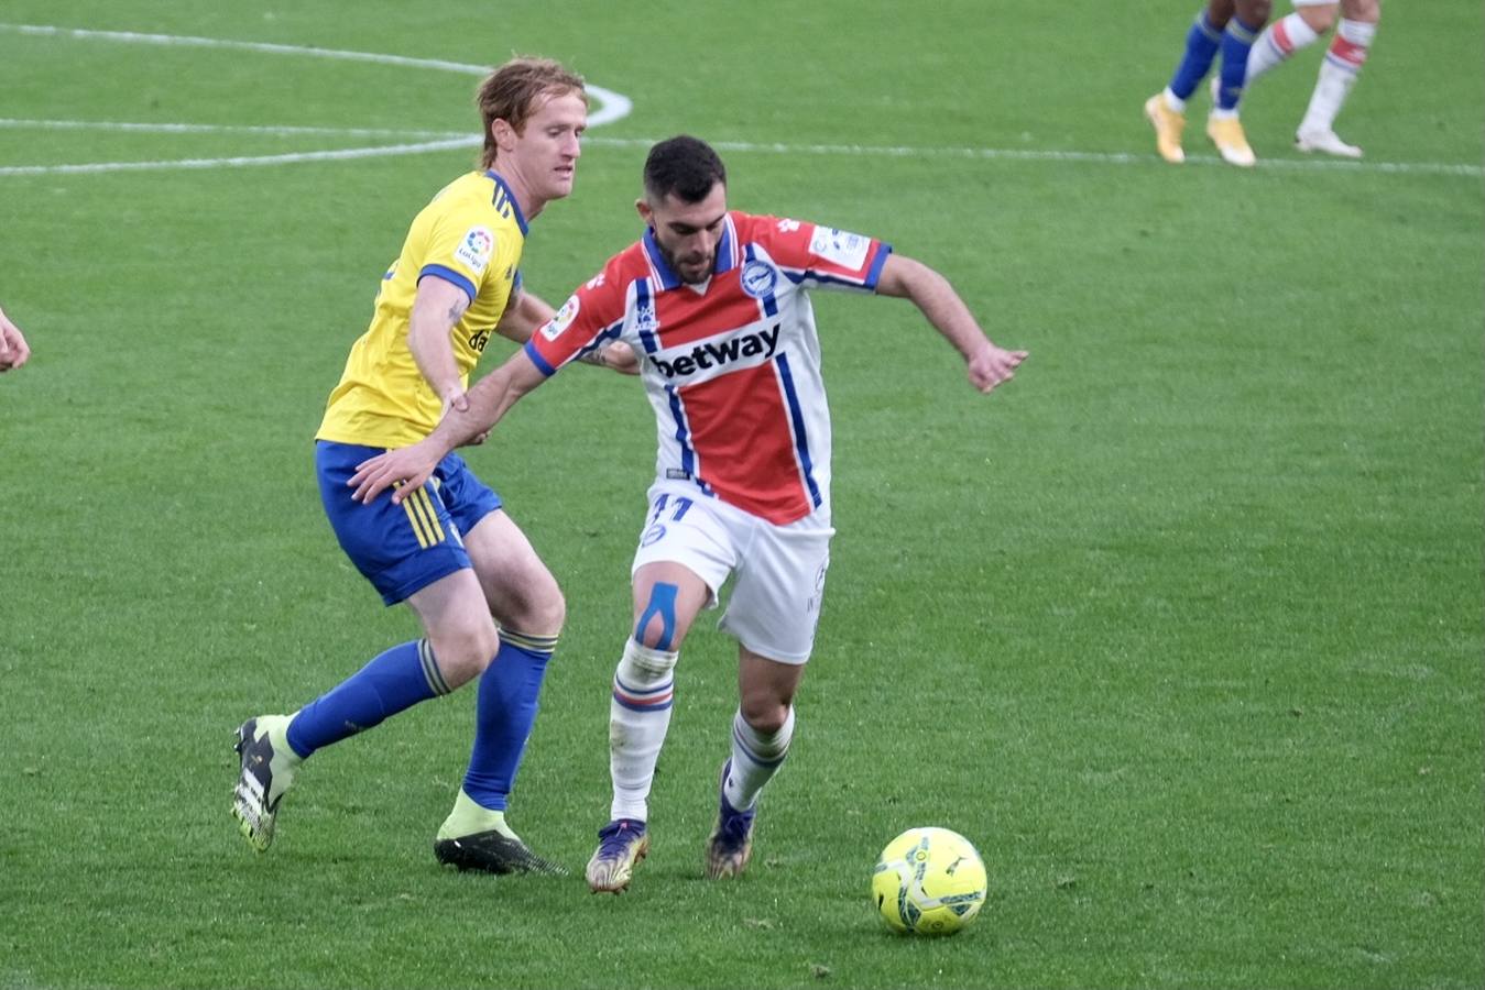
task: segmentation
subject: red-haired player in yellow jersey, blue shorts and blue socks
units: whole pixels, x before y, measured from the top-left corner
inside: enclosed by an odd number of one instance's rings
[[[399,503],[361,505],[346,487],[368,456],[413,444],[443,413],[466,408],[469,373],[492,332],[524,343],[554,315],[521,289],[521,248],[527,223],[572,191],[587,123],[582,79],[552,61],[517,58],[481,83],[477,99],[481,168],[446,186],[413,221],[315,438],[336,537],[386,604],[411,606],[425,635],[373,658],[293,715],[239,727],[233,813],[258,850],[272,843],[279,801],[312,753],[478,678],[469,767],[434,852],[460,870],[560,871],[505,822],[566,614],[557,582],[459,456]],[[612,353],[633,364],[625,349]]]

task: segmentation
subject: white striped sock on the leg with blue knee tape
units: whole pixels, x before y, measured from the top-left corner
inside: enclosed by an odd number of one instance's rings
[[[633,638],[624,644],[609,702],[610,818],[644,821],[649,816],[655,763],[670,729],[677,656],[670,650],[652,650]]]

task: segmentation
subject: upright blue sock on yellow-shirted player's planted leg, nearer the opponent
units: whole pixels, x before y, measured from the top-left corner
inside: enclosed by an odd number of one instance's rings
[[[536,724],[536,701],[546,660],[557,649],[554,635],[500,629],[500,652],[480,675],[474,748],[465,773],[465,794],[481,807],[503,812],[515,785],[526,739]]]

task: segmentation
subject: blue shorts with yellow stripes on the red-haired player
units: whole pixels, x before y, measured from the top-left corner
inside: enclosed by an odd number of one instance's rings
[[[356,465],[380,453],[385,448],[315,441],[315,475],[340,548],[382,592],[382,601],[395,606],[471,566],[459,534],[499,509],[500,496],[474,476],[463,457],[448,454],[402,505],[392,505],[391,491],[370,505],[353,502],[346,482]]]

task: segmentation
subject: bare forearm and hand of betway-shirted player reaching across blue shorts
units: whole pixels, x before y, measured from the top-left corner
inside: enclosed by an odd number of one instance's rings
[[[350,497],[367,503],[395,487],[392,502],[401,505],[408,491],[428,481],[448,451],[483,438],[517,399],[545,380],[526,350],[517,350],[465,393],[465,408],[456,405],[444,413],[432,433],[411,447],[389,450],[356,465],[356,473],[346,482],[355,488]]]

